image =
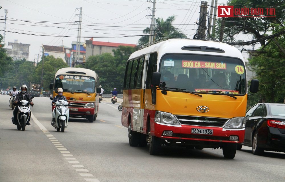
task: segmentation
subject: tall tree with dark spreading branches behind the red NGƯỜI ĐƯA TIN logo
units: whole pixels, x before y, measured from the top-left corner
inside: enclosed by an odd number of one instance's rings
[[[251,13],[251,8],[263,8],[264,16],[276,16],[270,18],[259,18],[256,20],[255,18],[243,18],[243,20],[236,19],[228,19],[224,20],[224,28],[223,28],[223,41],[224,42],[242,42],[242,40],[238,40],[236,35],[250,34],[256,39],[260,39],[266,36],[266,34],[270,34],[272,32],[271,23],[277,23],[280,26],[284,26],[285,21],[285,4],[280,0],[230,0],[227,5],[234,6],[234,8],[245,9],[249,8],[249,13]],[[275,8],[276,15],[267,15],[266,8]],[[260,16],[260,15],[235,15],[235,16]],[[221,21],[218,18],[218,25],[215,31],[215,38],[219,40],[219,35],[221,31]],[[259,41],[261,46],[263,46],[266,42],[265,40]]]

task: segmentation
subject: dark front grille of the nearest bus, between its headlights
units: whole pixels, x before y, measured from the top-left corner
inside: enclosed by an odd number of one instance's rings
[[[229,120],[227,118],[185,116],[185,115],[176,115],[176,118],[182,125],[208,126],[208,127],[223,127],[225,123]]]

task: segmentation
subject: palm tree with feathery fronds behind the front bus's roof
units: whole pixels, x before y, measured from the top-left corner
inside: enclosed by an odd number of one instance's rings
[[[154,40],[159,38],[187,38],[187,36],[180,32],[178,28],[172,25],[176,16],[169,16],[165,21],[163,18],[154,18]],[[147,27],[143,30],[144,34],[150,34],[150,28]],[[147,44],[149,36],[145,35],[139,39],[139,46]]]

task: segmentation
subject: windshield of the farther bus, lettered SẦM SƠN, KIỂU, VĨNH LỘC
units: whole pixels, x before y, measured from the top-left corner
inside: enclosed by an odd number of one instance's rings
[[[58,75],[55,78],[54,88],[63,88],[64,92],[94,93],[95,79],[82,75]]]

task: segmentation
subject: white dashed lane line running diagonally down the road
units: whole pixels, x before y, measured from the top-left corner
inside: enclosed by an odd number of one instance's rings
[[[48,137],[48,139],[50,139],[50,141],[52,142],[52,144],[54,144],[54,146],[58,149],[58,150],[67,150],[64,146],[62,146],[62,144],[44,127],[44,125],[42,125],[42,123],[40,123],[38,121],[38,119],[36,119],[36,117],[33,115],[33,113],[31,113],[31,118],[34,120],[34,122],[38,125],[38,127],[42,130],[42,132],[44,132],[44,134],[46,135],[46,137]],[[70,154],[69,151],[60,151],[62,153],[62,155],[64,157],[66,157],[65,159],[68,161],[69,164],[72,164],[72,167],[75,167],[75,170],[80,176],[82,177],[94,177],[91,173],[82,173],[82,172],[89,172],[87,169],[78,169],[77,167],[83,167],[83,165],[79,165],[80,162],[76,160],[76,158],[74,158],[74,156],[72,154]],[[98,179],[96,178],[84,178],[85,181],[93,181],[93,182],[100,182]]]

